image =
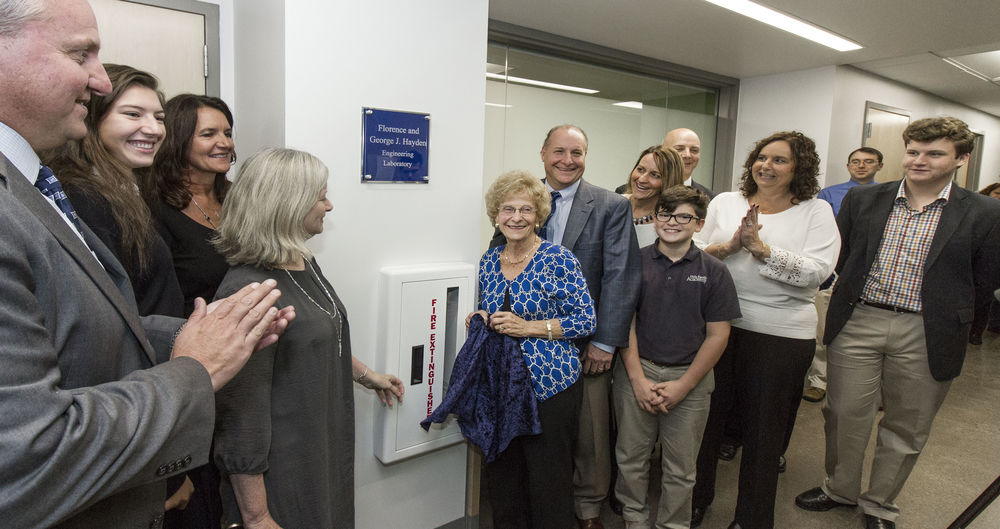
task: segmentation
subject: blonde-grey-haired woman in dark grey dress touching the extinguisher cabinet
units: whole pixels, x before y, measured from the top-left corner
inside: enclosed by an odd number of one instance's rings
[[[274,279],[296,313],[216,395],[224,527],[354,527],[352,380],[389,406],[403,396],[399,378],[351,355],[344,305],[305,246],[333,209],[327,175],[309,153],[266,149],[244,163],[222,206],[214,244],[232,268],[218,295]]]

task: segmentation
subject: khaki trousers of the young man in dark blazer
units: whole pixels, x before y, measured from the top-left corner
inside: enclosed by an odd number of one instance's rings
[[[857,503],[866,514],[895,520],[899,495],[951,382],[938,382],[927,364],[923,317],[858,304],[828,348],[826,481],[831,498]],[[885,414],[868,490],[861,471],[879,397]]]

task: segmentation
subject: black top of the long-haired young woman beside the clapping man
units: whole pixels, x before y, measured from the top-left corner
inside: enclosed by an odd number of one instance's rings
[[[126,249],[122,247],[122,232],[111,216],[111,206],[100,194],[93,191],[83,191],[78,187],[65,186],[74,209],[87,226],[93,230],[101,242],[111,250],[122,267],[128,273],[135,292],[135,301],[139,314],[162,314],[164,316],[180,317],[184,314],[184,297],[174,273],[170,248],[156,231],[151,231],[149,264],[144,273],[138,266],[130,265],[124,259]],[[134,252],[134,249],[127,249]]]

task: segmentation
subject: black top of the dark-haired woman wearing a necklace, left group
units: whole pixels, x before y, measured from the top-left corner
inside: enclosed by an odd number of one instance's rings
[[[174,271],[184,293],[184,316],[189,316],[194,310],[195,298],[205,301],[215,298],[215,291],[229,271],[229,265],[208,242],[215,230],[162,202],[153,208],[153,218],[173,255]]]

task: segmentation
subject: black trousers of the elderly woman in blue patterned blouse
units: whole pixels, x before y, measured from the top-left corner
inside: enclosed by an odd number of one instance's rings
[[[485,465],[484,477],[495,529],[570,529],[573,512],[573,445],[583,385],[538,404],[540,435],[511,441]]]

